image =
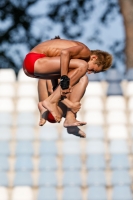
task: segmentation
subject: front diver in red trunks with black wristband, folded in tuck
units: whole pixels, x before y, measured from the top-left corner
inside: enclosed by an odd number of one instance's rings
[[[85,44],[55,38],[42,42],[35,46],[25,57],[23,69],[27,76],[45,80],[60,80],[57,87],[45,100],[41,101],[40,112],[45,115],[49,111],[56,122],[60,122],[62,115],[58,103],[65,104],[74,115],[81,107],[80,99],[83,90],[76,85],[86,73],[98,73],[109,69],[112,64],[112,56],[101,50],[90,50]],[[74,95],[72,95],[74,92]],[[79,95],[79,93],[81,95]],[[79,97],[79,96],[80,97]],[[74,98],[78,96],[78,98]],[[74,100],[73,100],[74,99]],[[68,119],[68,118],[67,118]],[[69,118],[70,122],[64,122],[67,126],[83,125]],[[66,126],[66,127],[67,127]]]

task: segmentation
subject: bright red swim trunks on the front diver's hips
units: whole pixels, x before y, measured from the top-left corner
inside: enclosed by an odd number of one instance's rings
[[[35,74],[34,74],[34,63],[39,58],[43,58],[43,57],[46,57],[46,55],[34,53],[34,52],[28,53],[23,62],[24,72],[26,71],[27,74],[32,75],[35,78],[39,78],[39,77],[35,76]]]

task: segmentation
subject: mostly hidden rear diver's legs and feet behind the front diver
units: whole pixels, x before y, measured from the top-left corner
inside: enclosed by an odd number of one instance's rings
[[[58,83],[58,80],[44,80],[44,79],[39,79],[38,80],[38,97],[39,97],[39,103],[38,103],[38,108],[40,111],[40,121],[39,125],[43,126],[46,121],[49,121],[50,123],[56,123],[54,117],[52,114],[47,111],[45,112],[44,107],[42,106],[42,102],[47,99],[47,97],[53,93],[54,87],[56,87],[55,84]],[[88,85],[88,77],[85,75],[83,76],[77,84],[73,86],[72,92],[69,94],[69,99],[73,103],[81,100],[85,93],[85,89]],[[77,93],[76,91],[80,91]],[[69,134],[73,134],[79,137],[86,137],[86,134],[79,129],[78,126],[83,126],[86,124],[86,122],[80,122],[76,119],[76,113],[72,112],[71,109],[67,108],[66,105],[62,103],[62,101],[59,101],[57,104],[58,111],[60,113],[61,117],[64,117],[64,127],[67,129],[67,132]]]

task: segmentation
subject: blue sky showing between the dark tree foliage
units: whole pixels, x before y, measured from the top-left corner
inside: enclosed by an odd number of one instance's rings
[[[58,0],[40,0],[40,2],[36,3],[35,6],[30,8],[29,12],[32,14],[35,13],[35,15],[44,14],[47,12],[49,4],[55,1]],[[84,29],[81,29],[81,31],[84,32],[82,33],[83,35],[81,37],[75,38],[75,40],[85,43],[90,49],[101,49],[112,53],[111,50],[109,49],[109,46],[111,46],[113,42],[117,40],[123,42],[125,38],[122,16],[117,14],[115,20],[110,20],[109,25],[103,25],[101,22],[99,22],[99,16],[101,16],[102,12],[106,9],[106,4],[108,1],[107,0],[93,0],[93,1],[95,3],[95,11],[92,13],[90,19],[81,22],[82,23],[81,25],[84,27]],[[100,41],[102,41],[101,44],[97,43],[94,40],[89,41],[89,38],[92,37],[94,31],[97,28],[100,30],[100,34],[98,34],[97,37]],[[44,36],[45,37],[47,36],[47,39],[51,39],[57,35],[60,35],[61,38],[66,38],[62,34],[61,30],[62,30],[61,24],[57,22],[54,23],[53,21],[45,17],[43,19],[35,20],[32,28],[32,31],[36,36],[40,35],[42,37],[42,41],[45,40],[45,38],[43,38]],[[74,31],[74,28],[72,29],[72,31]],[[124,64],[119,60],[116,60],[116,62],[118,70],[124,72],[125,70]]]

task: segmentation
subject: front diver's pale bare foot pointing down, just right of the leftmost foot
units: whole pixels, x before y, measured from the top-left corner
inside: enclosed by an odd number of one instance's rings
[[[54,119],[56,122],[60,122],[61,121],[61,115],[59,113],[59,110],[57,108],[56,103],[51,103],[48,100],[44,100],[42,102],[42,106],[48,110],[49,112],[51,112],[51,114],[53,115]]]

